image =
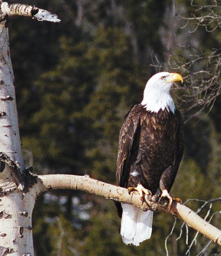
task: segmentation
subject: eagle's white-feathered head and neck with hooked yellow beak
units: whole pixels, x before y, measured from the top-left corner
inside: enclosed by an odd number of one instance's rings
[[[174,113],[175,105],[169,90],[175,81],[183,83],[182,76],[169,72],[160,72],[152,76],[144,90],[144,98],[141,102],[144,108],[151,112],[158,112],[160,109],[166,108]]]

